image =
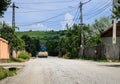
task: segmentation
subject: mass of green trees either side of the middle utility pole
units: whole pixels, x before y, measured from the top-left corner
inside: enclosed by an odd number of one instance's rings
[[[84,47],[96,46],[102,43],[100,33],[110,26],[109,18],[103,17],[95,20],[92,25],[83,25]],[[59,56],[65,58],[81,58],[80,44],[81,44],[81,27],[74,24],[73,27],[68,28],[65,37],[59,40]]]

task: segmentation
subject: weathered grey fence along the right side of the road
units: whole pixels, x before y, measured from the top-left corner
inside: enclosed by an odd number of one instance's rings
[[[98,45],[93,47],[86,47],[84,49],[84,58],[95,60],[120,60],[120,46]]]

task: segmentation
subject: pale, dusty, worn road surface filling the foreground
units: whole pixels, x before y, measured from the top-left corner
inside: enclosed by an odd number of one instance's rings
[[[37,58],[0,84],[120,84],[120,64]]]

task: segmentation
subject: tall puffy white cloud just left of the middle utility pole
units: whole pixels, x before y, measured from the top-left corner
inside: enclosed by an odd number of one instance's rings
[[[71,27],[73,23],[73,16],[70,13],[66,13],[64,21],[61,22],[62,30],[66,29],[66,24],[68,24],[68,26]]]

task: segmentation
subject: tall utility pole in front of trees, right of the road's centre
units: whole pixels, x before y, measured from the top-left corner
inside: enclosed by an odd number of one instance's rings
[[[79,57],[83,57],[83,52],[84,52],[84,34],[83,34],[83,15],[82,15],[82,8],[83,8],[83,5],[87,4],[88,2],[90,2],[91,0],[87,1],[87,2],[84,2],[82,3],[80,1],[80,5],[79,5],[79,8],[80,8],[80,47],[79,47]]]

